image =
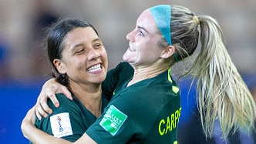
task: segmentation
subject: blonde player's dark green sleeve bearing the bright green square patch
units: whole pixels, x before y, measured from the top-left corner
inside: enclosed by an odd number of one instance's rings
[[[126,143],[136,131],[136,123],[116,105],[109,105],[103,116],[87,129],[86,134],[97,143]]]

